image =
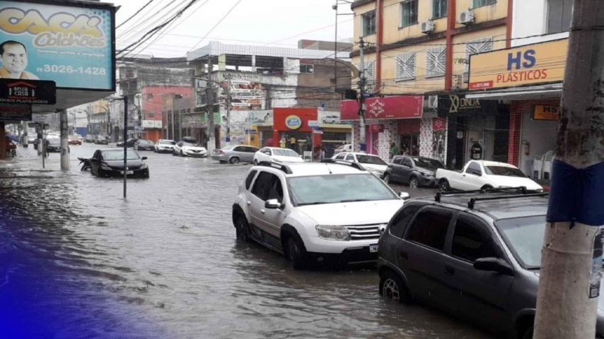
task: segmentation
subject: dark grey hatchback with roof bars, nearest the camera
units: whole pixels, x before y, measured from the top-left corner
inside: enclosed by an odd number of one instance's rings
[[[380,294],[425,302],[508,338],[533,338],[546,213],[547,194],[407,201],[380,238]],[[603,301],[597,338],[604,338]]]

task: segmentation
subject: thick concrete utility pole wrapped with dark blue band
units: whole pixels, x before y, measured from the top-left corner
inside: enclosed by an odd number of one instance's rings
[[[574,1],[535,339],[596,337],[604,225],[603,22],[604,1]]]

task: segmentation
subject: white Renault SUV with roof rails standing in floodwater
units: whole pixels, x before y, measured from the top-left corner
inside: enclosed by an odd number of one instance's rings
[[[240,185],[233,224],[238,239],[284,254],[294,269],[375,261],[381,231],[408,196],[351,162],[261,162]]]

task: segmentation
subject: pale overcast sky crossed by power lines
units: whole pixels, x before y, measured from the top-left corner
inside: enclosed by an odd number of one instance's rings
[[[176,8],[182,8],[189,1],[153,0],[141,13],[117,29],[117,49],[137,41],[145,32],[176,13]],[[192,48],[203,47],[211,40],[291,48],[296,48],[301,39],[334,40],[335,11],[332,6],[336,0],[238,1],[197,1],[173,25],[143,44],[143,51],[139,48],[137,52],[153,54],[154,57],[184,57]],[[116,15],[117,27],[149,0],[108,2],[121,6]],[[233,10],[228,13],[231,8]],[[352,13],[350,5],[340,4],[338,13]],[[224,19],[219,23],[221,18]],[[338,16],[338,40],[352,38],[352,18],[352,15]],[[211,30],[216,23],[219,25]],[[207,37],[202,40],[205,35]],[[146,47],[148,44],[149,47]]]

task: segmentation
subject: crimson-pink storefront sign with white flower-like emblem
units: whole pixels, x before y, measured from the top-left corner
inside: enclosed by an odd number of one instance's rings
[[[396,95],[392,97],[369,97],[365,100],[366,119],[413,119],[421,118],[424,108],[422,95]],[[359,120],[359,102],[340,102],[342,120]]]

